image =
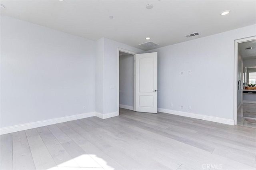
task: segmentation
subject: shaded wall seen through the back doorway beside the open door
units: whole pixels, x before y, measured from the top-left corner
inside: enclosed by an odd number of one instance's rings
[[[133,55],[119,56],[119,104],[133,107]]]

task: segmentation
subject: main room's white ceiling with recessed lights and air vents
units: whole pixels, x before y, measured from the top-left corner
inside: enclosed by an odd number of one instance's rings
[[[247,0],[1,0],[11,16],[89,40],[102,37],[150,49],[256,24],[256,1]],[[154,8],[146,9],[147,4]],[[220,12],[231,10],[221,16]],[[113,16],[110,19],[109,16]],[[186,38],[188,34],[200,35]],[[145,40],[145,37],[151,37]]]

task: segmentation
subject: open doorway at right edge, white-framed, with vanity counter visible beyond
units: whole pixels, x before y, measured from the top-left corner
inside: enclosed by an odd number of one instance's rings
[[[236,40],[235,54],[235,124],[256,128],[256,37]]]

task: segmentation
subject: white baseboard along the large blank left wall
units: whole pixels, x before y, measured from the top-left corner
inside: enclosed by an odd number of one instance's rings
[[[44,127],[44,126],[53,125],[56,123],[74,121],[77,119],[84,119],[84,118],[93,117],[93,116],[95,116],[95,112],[82,113],[79,115],[72,115],[72,116],[60,117],[60,118],[55,118],[55,119],[48,119],[48,120],[44,120],[44,121],[37,121],[37,122],[32,122],[32,123],[25,123],[25,124],[21,124],[21,125],[4,127],[4,128],[0,128],[0,134],[18,132],[20,130],[27,130],[27,129],[37,128],[37,127]]]

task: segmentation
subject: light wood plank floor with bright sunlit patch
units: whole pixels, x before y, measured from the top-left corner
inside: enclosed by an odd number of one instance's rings
[[[256,169],[256,129],[120,109],[0,136],[1,170]]]

